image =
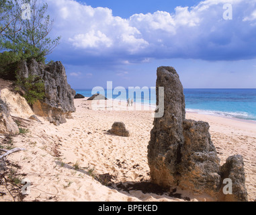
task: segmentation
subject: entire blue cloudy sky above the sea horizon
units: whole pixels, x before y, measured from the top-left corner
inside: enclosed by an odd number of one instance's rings
[[[73,89],[154,87],[174,67],[184,88],[256,88],[256,0],[45,0]]]

